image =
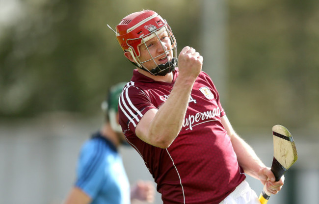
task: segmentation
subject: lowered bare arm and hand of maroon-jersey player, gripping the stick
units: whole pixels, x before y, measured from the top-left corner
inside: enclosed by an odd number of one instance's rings
[[[235,132],[228,118],[224,115],[221,122],[231,138],[234,151],[237,155],[239,165],[244,172],[251,177],[259,179],[263,184],[267,182],[267,189],[270,193],[276,194],[284,184],[284,177],[275,182],[275,176],[270,168],[260,160],[255,151]],[[268,180],[268,181],[267,181]]]

